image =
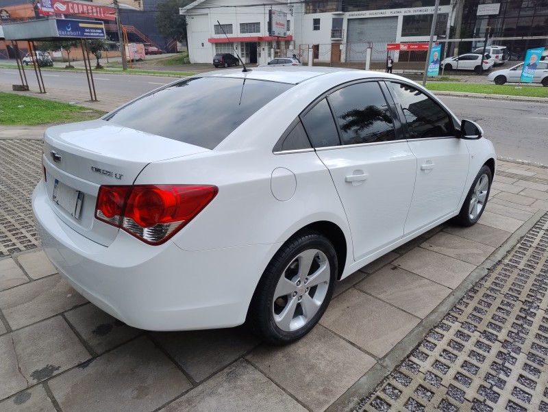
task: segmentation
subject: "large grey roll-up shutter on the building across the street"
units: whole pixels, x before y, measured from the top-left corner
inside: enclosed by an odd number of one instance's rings
[[[351,18],[348,21],[347,62],[365,62],[365,51],[373,43],[373,62],[386,60],[386,43],[396,41],[398,18]]]

